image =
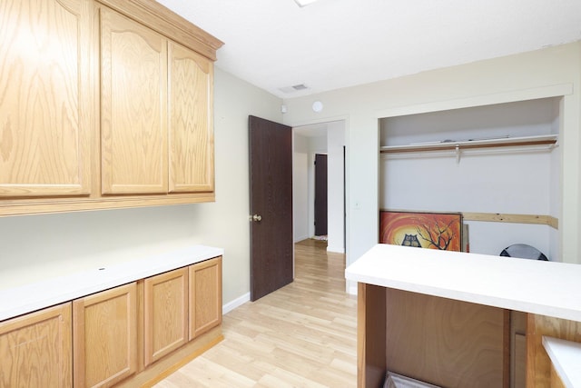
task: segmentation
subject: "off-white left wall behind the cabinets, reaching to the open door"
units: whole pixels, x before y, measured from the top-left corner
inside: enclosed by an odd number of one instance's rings
[[[214,85],[215,203],[0,217],[0,269],[42,278],[54,262],[82,268],[96,254],[129,259],[178,244],[206,244],[225,250],[223,302],[248,295],[248,115],[281,122],[281,99],[219,68]]]

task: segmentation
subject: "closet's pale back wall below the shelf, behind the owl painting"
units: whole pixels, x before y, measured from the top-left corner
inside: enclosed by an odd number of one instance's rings
[[[380,207],[412,211],[549,214],[550,157],[527,154],[463,154],[382,157]],[[548,225],[468,221],[470,252],[500,254],[529,244],[550,256]],[[559,258],[560,259],[560,258]]]

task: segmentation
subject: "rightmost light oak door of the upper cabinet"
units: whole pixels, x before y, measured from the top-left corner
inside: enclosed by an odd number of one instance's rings
[[[213,192],[213,64],[182,45],[168,45],[170,192]]]

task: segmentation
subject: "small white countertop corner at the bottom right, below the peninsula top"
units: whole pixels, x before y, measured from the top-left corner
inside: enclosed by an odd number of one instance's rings
[[[581,343],[543,336],[543,346],[565,386],[581,387]]]

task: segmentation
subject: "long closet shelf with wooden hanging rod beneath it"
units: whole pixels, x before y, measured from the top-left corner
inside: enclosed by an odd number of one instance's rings
[[[501,137],[497,139],[485,140],[465,140],[465,141],[442,141],[429,143],[416,143],[407,145],[385,145],[379,147],[381,154],[396,153],[417,153],[425,151],[457,151],[475,148],[493,148],[493,147],[519,147],[539,145],[551,148],[556,146],[558,134],[541,134],[535,136],[523,137]]]

